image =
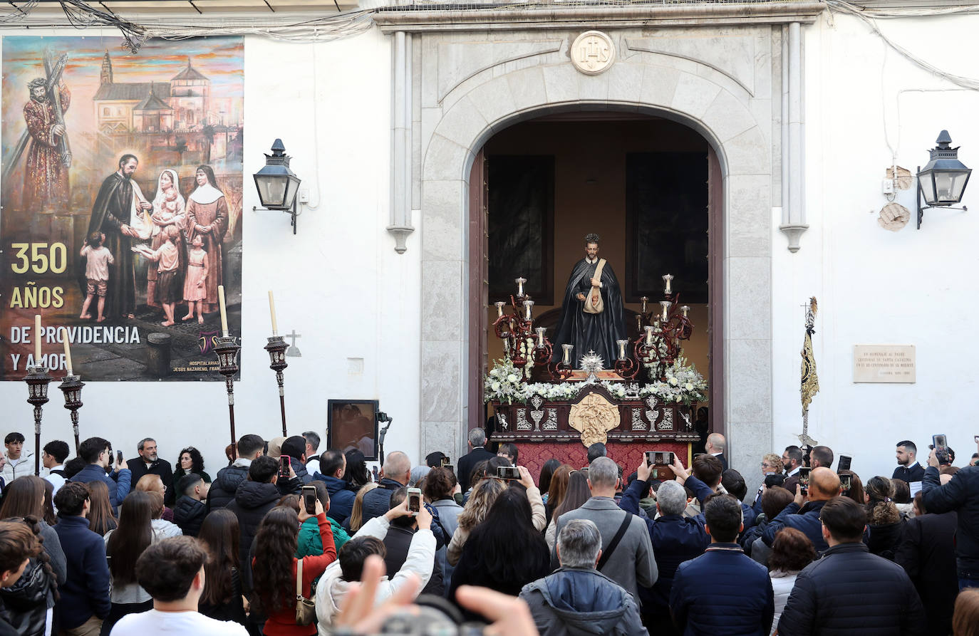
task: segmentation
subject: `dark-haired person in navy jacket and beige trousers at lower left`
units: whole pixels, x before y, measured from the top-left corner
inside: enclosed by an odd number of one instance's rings
[[[68,563],[68,578],[58,587],[61,598],[55,615],[63,633],[77,636],[98,634],[109,615],[110,576],[106,562],[106,542],[88,528],[88,488],[84,483],[66,483],[55,493],[58,523],[55,532],[61,540]]]

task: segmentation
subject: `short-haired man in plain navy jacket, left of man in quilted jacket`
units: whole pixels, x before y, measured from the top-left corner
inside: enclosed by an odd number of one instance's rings
[[[768,636],[775,614],[768,570],[735,543],[744,527],[741,502],[717,494],[704,506],[711,545],[676,568],[670,593],[674,624],[686,636]]]

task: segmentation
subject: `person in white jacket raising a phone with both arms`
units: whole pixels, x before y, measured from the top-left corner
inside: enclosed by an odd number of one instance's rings
[[[332,633],[333,619],[350,590],[350,583],[360,580],[364,561],[372,554],[384,556],[384,537],[388,535],[391,520],[410,515],[405,499],[382,517],[375,517],[363,524],[353,538],[340,551],[340,558],[330,564],[316,585],[316,617],[319,619],[319,635]],[[405,583],[408,573],[421,579],[418,589],[425,587],[435,565],[435,535],[432,534],[432,515],[422,506],[417,513],[418,530],[411,538],[404,565],[392,577],[385,576],[374,596],[374,607],[384,603]]]

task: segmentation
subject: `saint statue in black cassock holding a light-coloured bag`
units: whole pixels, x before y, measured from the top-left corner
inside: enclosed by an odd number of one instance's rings
[[[612,271],[612,266],[606,262],[602,268],[601,280],[594,280],[595,269],[598,267],[597,234],[584,237],[585,257],[575,264],[571,270],[571,278],[564,291],[564,302],[561,305],[561,317],[555,328],[554,353],[552,360],[560,362],[564,356],[562,344],[574,344],[571,351],[571,366],[579,367],[579,360],[589,350],[602,357],[606,369],[611,369],[618,358],[616,341],[626,338],[626,326],[623,322],[622,290],[619,281]],[[585,313],[584,300],[593,288],[598,288],[602,295],[604,309],[601,313]]]

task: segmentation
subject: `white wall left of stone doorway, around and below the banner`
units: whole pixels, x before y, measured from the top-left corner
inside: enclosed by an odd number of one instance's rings
[[[30,31],[33,34],[33,30]],[[76,31],[65,34],[74,35]],[[117,34],[109,35],[116,37]],[[386,448],[418,454],[419,239],[396,254],[389,223],[390,44],[373,30],[330,43],[284,44],[250,36],[245,44],[245,211],[242,380],[235,387],[236,432],[281,434],[268,355],[266,292],[275,293],[279,329],[303,335],[289,357],[290,432],[326,430],[330,398],[379,399],[395,422]],[[258,204],[251,175],[281,138],[318,209],[303,211],[293,236],[282,212]],[[362,375],[348,358],[363,359]],[[84,381],[84,378],[82,379]],[[42,444],[71,444],[68,411],[52,384]],[[0,432],[21,431],[33,449],[23,383],[0,383]],[[82,437],[98,434],[136,454],[144,436],[163,458],[196,445],[211,476],[229,441],[223,383],[86,383]]]

